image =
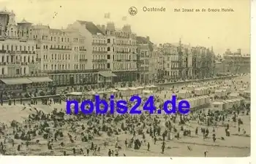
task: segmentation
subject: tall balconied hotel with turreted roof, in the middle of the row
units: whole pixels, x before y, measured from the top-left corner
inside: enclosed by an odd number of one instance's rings
[[[131,26],[116,28],[114,23],[98,28],[105,33],[108,50],[108,64],[113,82],[132,82],[137,79],[137,42]]]

